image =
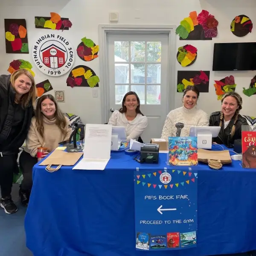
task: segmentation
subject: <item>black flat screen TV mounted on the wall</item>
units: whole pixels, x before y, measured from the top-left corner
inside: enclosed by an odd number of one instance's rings
[[[212,70],[256,70],[256,43],[214,44]]]

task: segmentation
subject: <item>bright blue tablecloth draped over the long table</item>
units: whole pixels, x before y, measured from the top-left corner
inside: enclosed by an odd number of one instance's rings
[[[136,251],[134,236],[133,171],[169,169],[166,154],[160,154],[158,164],[140,164],[124,152],[111,153],[104,171],[61,167],[49,173],[37,164],[25,218],[27,247],[34,256],[205,256],[255,250],[256,169],[242,169],[240,163],[221,170],[195,167],[198,244],[172,252]]]

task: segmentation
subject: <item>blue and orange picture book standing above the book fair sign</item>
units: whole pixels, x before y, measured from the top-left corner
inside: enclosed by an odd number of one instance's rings
[[[197,137],[169,137],[169,165],[198,165]]]

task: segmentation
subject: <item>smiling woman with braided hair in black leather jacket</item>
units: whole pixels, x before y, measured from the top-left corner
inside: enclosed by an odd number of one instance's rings
[[[221,126],[218,137],[212,138],[212,142],[233,148],[234,140],[241,139],[241,126],[248,125],[247,120],[239,114],[242,98],[238,93],[227,93],[221,103],[221,111],[210,115],[209,126]]]

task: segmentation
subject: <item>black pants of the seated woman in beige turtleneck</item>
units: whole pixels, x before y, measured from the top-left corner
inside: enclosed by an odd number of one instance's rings
[[[20,189],[23,191],[30,191],[32,189],[32,169],[33,166],[38,162],[36,157],[32,157],[26,151],[22,151],[20,154],[20,170],[23,174],[23,180],[20,184]]]

